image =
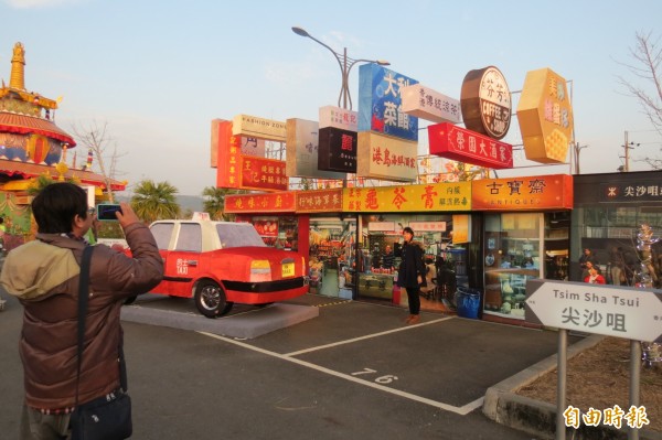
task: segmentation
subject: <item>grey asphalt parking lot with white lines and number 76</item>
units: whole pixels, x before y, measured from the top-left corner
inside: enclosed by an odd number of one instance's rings
[[[22,307],[0,298],[0,432],[11,439]],[[406,313],[308,294],[207,320],[190,300],[143,297],[122,311],[134,438],[549,438],[496,423],[481,407],[488,389],[555,354],[556,332],[434,313],[406,326]],[[279,330],[254,337],[227,330],[282,316]]]

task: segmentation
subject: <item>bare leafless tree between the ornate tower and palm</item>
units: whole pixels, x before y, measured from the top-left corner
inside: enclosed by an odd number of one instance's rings
[[[72,130],[79,144],[86,147],[94,158],[99,168],[99,174],[104,176],[106,183],[106,191],[108,192],[108,198],[110,203],[114,202],[111,180],[116,176],[117,160],[124,154],[118,153],[117,143],[108,133],[108,122],[98,124],[97,121],[90,122],[86,127],[72,125]],[[110,149],[110,151],[108,151]]]

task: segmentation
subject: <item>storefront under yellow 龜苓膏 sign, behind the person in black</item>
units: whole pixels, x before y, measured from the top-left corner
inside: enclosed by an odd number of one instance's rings
[[[456,287],[468,282],[470,211],[470,182],[345,189],[343,213],[356,215],[355,257],[346,277],[357,286],[355,298],[407,305],[396,283],[408,226],[425,249],[421,310],[449,311]]]

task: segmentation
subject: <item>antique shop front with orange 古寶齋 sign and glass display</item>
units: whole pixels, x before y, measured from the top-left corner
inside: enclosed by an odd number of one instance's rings
[[[568,279],[573,207],[569,175],[472,182],[474,211],[483,211],[483,318],[524,320],[526,280]]]

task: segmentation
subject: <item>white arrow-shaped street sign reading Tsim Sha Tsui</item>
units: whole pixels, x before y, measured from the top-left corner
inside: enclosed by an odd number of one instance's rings
[[[662,342],[662,291],[586,282],[526,281],[528,322],[632,341]]]

